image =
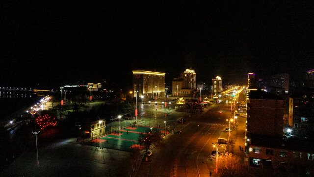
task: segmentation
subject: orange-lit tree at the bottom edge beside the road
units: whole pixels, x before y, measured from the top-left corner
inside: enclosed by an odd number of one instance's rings
[[[247,174],[240,158],[232,153],[218,158],[217,175],[219,177],[252,177],[252,174]]]

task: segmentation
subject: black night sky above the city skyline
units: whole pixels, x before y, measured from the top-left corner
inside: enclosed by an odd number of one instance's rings
[[[309,1],[310,2],[310,1]],[[4,0],[0,85],[131,85],[131,70],[198,81],[314,69],[314,6],[300,1]]]

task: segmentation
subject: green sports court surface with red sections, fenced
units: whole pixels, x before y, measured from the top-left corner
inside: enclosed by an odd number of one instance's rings
[[[130,126],[117,132],[112,132],[103,137],[91,140],[88,142],[88,145],[124,151],[130,151],[132,148],[143,149],[144,147],[138,144],[138,137],[141,133],[145,133],[146,130],[149,130],[150,128],[151,127],[148,126]],[[169,133],[164,131],[164,128],[154,127],[153,130],[160,131],[162,136]]]

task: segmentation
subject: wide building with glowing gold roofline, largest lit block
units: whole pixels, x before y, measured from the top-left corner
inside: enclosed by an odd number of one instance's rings
[[[147,98],[162,98],[165,94],[165,73],[155,71],[135,70],[133,73],[133,96]]]

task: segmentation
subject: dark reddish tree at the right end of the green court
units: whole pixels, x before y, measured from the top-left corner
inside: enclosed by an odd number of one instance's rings
[[[161,134],[158,130],[155,129],[146,130],[145,133],[140,134],[138,137],[138,143],[144,146],[146,152],[152,144],[158,146],[161,144],[161,141]]]

